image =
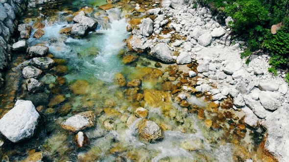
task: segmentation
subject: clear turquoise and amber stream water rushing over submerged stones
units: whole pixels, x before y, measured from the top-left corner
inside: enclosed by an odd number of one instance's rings
[[[55,67],[45,71],[39,79],[46,87],[38,94],[27,93],[21,76],[17,82],[19,89],[13,93],[9,91],[12,85],[7,83],[0,95],[0,112],[1,116],[6,113],[16,99],[31,100],[45,124],[29,141],[14,144],[4,140],[5,148],[0,150],[2,161],[23,161],[35,152],[42,152],[42,161],[48,162],[113,162],[117,158],[128,162],[270,161],[262,150],[264,132],[261,128],[246,127],[242,119],[244,114],[231,108],[230,99],[211,102],[204,96],[182,92],[189,96],[190,106],[180,106],[174,101],[178,94],[175,92],[182,84],[169,81],[168,77],[183,77],[190,68],[166,64],[156,68],[155,61],[129,51],[125,42],[131,35],[126,31],[127,17],[140,18],[144,14],[127,16],[126,9],[131,10],[134,3],[126,2],[118,3],[119,8],[100,11],[97,6],[105,3],[105,0],[61,1],[56,3],[60,5],[56,7],[59,11],[41,19],[46,24],[45,35],[40,39],[31,37],[28,43],[29,46],[48,46],[51,53],[48,57],[56,61]],[[99,13],[97,29],[82,39],[59,34],[61,29],[72,24],[67,21],[71,15],[64,11],[75,12],[86,5],[95,7],[94,13]],[[44,9],[43,12],[48,12],[53,7]],[[108,17],[109,21],[103,17]],[[32,25],[34,21],[29,23]],[[133,58],[132,62],[125,61],[128,56]],[[18,54],[11,66],[21,63],[23,58],[27,59]],[[8,78],[14,77],[12,72],[7,73]],[[120,74],[127,82],[141,79],[142,86],[120,86],[115,80]],[[8,103],[10,107],[7,107]],[[137,123],[142,119],[129,122],[138,107],[149,110],[147,119],[160,125],[164,131],[162,141],[140,140]],[[60,123],[73,114],[88,110],[95,112],[96,125],[83,130],[90,145],[78,148],[73,141],[77,132],[64,130]],[[110,121],[113,128],[105,127],[105,121]]]

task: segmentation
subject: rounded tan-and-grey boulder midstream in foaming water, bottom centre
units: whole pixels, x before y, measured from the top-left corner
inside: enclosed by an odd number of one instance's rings
[[[163,131],[154,121],[140,121],[139,135],[146,142],[154,143],[164,138]]]

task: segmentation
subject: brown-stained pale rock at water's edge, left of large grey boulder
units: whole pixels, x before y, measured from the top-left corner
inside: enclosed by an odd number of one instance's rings
[[[132,35],[128,41],[126,41],[126,44],[130,50],[143,53],[148,51],[152,41],[147,40],[147,38],[142,38],[141,36]]]

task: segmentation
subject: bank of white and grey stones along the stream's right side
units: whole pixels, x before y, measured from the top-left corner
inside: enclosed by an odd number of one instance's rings
[[[133,22],[128,26],[133,34],[127,41],[130,49],[150,51],[165,63],[197,63],[196,69],[184,71],[197,79],[183,90],[203,93],[211,101],[232,98],[233,108],[246,113],[247,125],[267,129],[266,151],[280,162],[288,161],[288,83],[284,75],[268,72],[269,56],[253,55],[246,64],[240,58],[245,43],[230,42],[232,19],[219,24],[209,8],[194,8],[193,0],[164,0],[162,8],[150,9],[147,15],[154,16],[137,27]]]

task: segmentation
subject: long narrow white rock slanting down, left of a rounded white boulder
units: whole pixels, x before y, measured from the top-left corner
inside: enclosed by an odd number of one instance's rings
[[[259,101],[253,100],[250,95],[244,96],[246,105],[253,110],[254,114],[259,118],[264,119],[271,115],[271,112],[267,111]]]

